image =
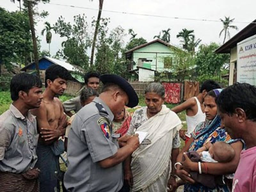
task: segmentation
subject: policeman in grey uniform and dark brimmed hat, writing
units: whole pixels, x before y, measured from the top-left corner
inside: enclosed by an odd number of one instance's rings
[[[117,75],[100,76],[103,88],[99,97],[77,114],[68,135],[68,170],[64,185],[74,192],[117,192],[123,186],[121,162],[139,147],[132,136],[119,148],[112,134],[113,114],[124,106],[135,107],[138,96],[132,86]]]

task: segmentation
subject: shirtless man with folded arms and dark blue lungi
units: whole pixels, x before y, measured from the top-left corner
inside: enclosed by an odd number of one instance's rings
[[[36,167],[41,170],[41,192],[60,190],[57,176],[60,174],[59,156],[64,152],[64,143],[58,139],[65,135],[67,122],[62,103],[54,96],[62,95],[67,89],[67,80],[71,79],[67,69],[59,65],[50,66],[45,72],[45,90],[41,106],[32,111],[36,115],[40,133],[36,148]]]

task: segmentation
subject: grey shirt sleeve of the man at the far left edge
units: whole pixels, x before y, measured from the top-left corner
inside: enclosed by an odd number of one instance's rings
[[[4,153],[12,140],[12,133],[3,126],[0,126],[0,161],[4,159]]]

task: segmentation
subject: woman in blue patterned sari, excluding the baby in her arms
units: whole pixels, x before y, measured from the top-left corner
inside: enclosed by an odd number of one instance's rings
[[[225,175],[232,174],[236,171],[240,159],[240,152],[243,148],[243,144],[240,140],[232,140],[224,128],[221,127],[221,119],[217,114],[217,105],[215,99],[220,94],[221,89],[214,89],[207,93],[204,98],[204,112],[206,120],[199,123],[196,129],[191,134],[191,138],[188,140],[184,148],[181,150],[177,158],[177,175],[185,182],[184,191],[198,192],[198,191],[225,191],[228,192],[228,186],[223,183],[221,186],[216,186],[215,189],[205,187],[200,183],[190,178],[188,172],[202,172],[212,175]],[[197,150],[207,143],[215,143],[216,141],[225,141],[231,145],[235,150],[235,157],[227,163],[204,163],[204,166],[200,167],[198,163],[192,162],[185,151]],[[205,147],[206,148],[206,147]],[[207,149],[207,148],[206,148]],[[182,161],[182,156],[185,157],[185,161]],[[223,180],[225,178],[223,177]],[[226,180],[226,179],[225,179]],[[214,181],[212,181],[214,182]]]

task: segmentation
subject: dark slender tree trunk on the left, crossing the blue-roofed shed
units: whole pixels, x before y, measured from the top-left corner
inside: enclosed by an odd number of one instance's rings
[[[35,34],[35,28],[34,28],[31,0],[28,0],[28,17],[29,17],[30,29],[31,29],[32,40],[33,40],[33,50],[34,50],[34,57],[35,57],[36,74],[38,77],[40,77],[39,64],[38,64],[38,52],[37,52],[37,45],[36,45],[36,34]]]

